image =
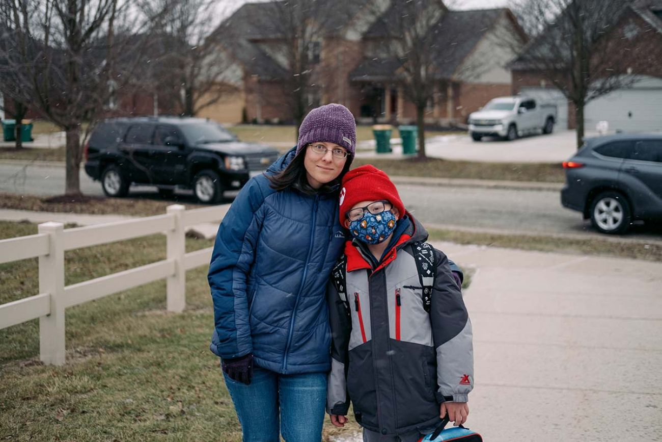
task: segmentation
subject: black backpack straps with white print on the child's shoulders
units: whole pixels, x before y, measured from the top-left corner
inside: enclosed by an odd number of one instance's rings
[[[414,252],[414,261],[418,271],[418,281],[423,290],[423,308],[429,313],[432,303],[432,286],[434,286],[434,277],[437,272],[437,266],[434,262],[434,247],[428,243],[417,241],[412,244],[412,251]],[[346,272],[347,255],[343,254],[331,270],[331,280],[347,311],[350,311],[350,302],[347,299]]]

